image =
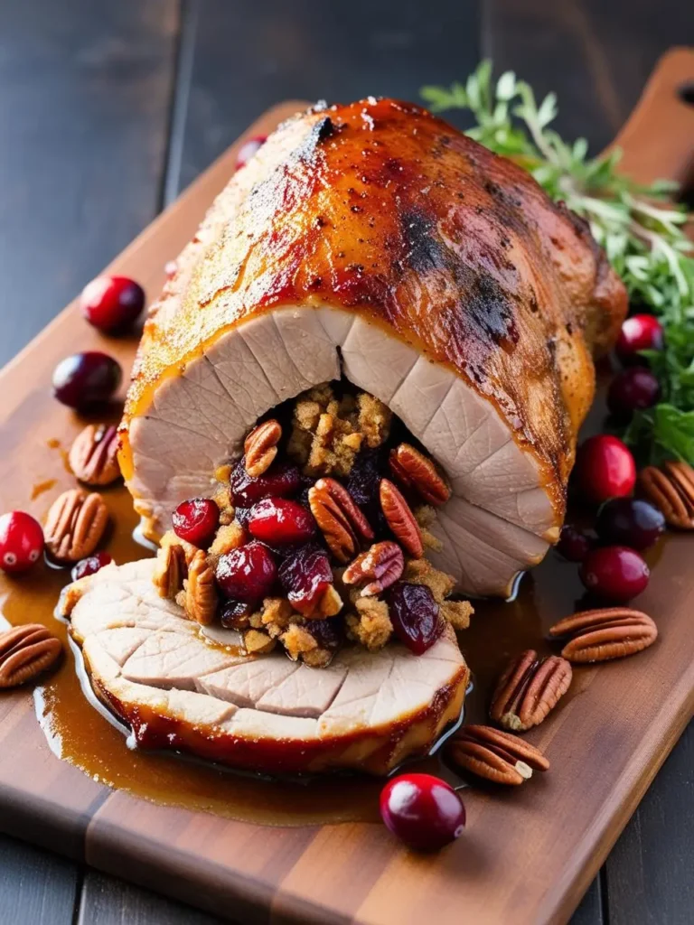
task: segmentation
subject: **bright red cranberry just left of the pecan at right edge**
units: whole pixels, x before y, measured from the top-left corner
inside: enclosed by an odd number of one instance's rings
[[[597,504],[622,498],[636,484],[634,457],[625,443],[610,434],[590,437],[578,448],[576,480],[583,495]]]

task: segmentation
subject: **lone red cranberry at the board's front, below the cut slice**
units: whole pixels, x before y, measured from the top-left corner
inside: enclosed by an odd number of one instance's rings
[[[380,815],[393,835],[419,851],[437,851],[465,828],[465,807],[452,786],[431,774],[401,774],[380,793]]]

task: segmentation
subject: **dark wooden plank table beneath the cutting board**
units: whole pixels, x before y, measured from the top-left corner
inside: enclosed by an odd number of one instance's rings
[[[281,99],[416,100],[489,56],[597,151],[675,44],[694,44],[687,0],[5,0],[0,362]],[[690,725],[576,925],[694,919],[693,768]],[[8,925],[213,922],[3,836],[0,871]]]

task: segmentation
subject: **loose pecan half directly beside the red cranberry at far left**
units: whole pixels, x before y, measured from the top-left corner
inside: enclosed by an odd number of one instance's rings
[[[108,510],[93,491],[86,495],[71,488],[51,505],[43,527],[46,549],[58,562],[77,562],[93,553],[104,536]]]

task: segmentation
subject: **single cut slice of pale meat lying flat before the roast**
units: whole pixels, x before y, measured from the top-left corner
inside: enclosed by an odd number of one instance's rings
[[[468,671],[450,627],[420,657],[345,648],[325,669],[243,656],[230,630],[186,620],[152,584],[153,560],[68,587],[63,612],[93,689],[140,746],[266,772],[387,773],[460,715]]]

